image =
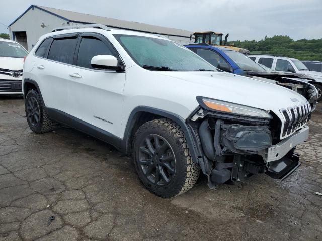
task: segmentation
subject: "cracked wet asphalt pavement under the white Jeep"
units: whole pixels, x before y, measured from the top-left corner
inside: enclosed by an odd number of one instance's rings
[[[0,240],[322,240],[322,104],[286,180],[252,176],[162,199],[131,158],[69,128],[35,134],[0,98]],[[50,222],[50,218],[54,220]]]

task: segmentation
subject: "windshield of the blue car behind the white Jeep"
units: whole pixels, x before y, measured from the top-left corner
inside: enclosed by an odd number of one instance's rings
[[[228,55],[237,65],[244,71],[259,71],[259,72],[266,72],[260,65],[255,63],[246,55],[232,51],[232,50],[223,50],[226,55]]]

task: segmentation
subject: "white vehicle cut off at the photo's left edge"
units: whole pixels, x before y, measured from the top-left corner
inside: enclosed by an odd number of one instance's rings
[[[17,42],[0,38],[0,95],[22,94],[22,70],[27,55],[27,50]]]

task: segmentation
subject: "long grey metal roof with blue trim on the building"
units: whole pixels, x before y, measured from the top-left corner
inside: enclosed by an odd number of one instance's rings
[[[9,25],[9,27],[13,25],[18,19],[20,19],[31,8],[37,8],[37,9],[43,10],[47,13],[53,14],[69,22],[85,23],[85,24],[104,24],[112,28],[114,27],[114,28],[121,28],[121,29],[134,30],[134,31],[140,31],[140,32],[180,36],[180,37],[187,37],[187,38],[189,38],[190,35],[193,33],[191,31],[187,31],[183,29],[173,29],[168,27],[101,17],[101,16],[96,16],[91,14],[78,13],[78,12],[49,8],[49,7],[38,6],[38,5],[31,5],[22,15],[20,15],[14,22],[12,22]]]

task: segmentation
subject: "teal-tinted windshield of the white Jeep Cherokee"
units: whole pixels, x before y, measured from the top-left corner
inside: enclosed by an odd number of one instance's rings
[[[217,71],[197,54],[175,42],[136,35],[114,35],[141,67],[154,71]]]

